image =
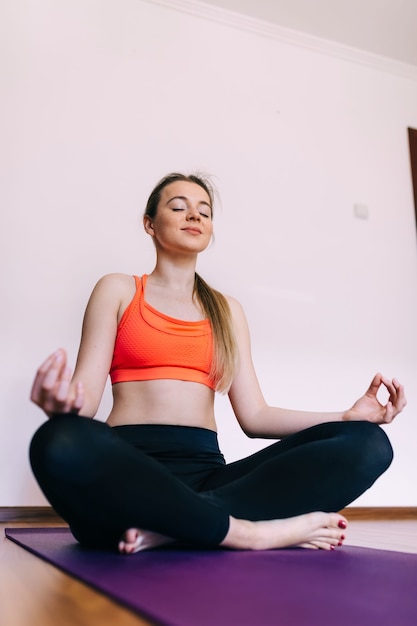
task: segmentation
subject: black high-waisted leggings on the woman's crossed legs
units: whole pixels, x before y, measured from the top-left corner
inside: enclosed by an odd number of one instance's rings
[[[229,516],[277,519],[339,511],[390,465],[384,431],[369,422],[313,426],[225,464],[211,430],[111,428],[56,415],[35,433],[33,472],[46,498],[85,545],[117,546],[128,528],[218,545]]]

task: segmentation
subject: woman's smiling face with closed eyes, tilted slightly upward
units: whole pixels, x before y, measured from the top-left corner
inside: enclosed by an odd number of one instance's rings
[[[197,254],[213,234],[210,197],[196,183],[171,183],[161,192],[156,216],[145,216],[144,226],[157,250]]]

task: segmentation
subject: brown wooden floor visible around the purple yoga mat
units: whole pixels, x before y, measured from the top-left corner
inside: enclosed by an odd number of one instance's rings
[[[414,513],[402,516],[403,519],[352,517],[346,533],[347,545],[417,554],[417,515]],[[56,518],[41,522],[36,519],[16,522],[9,518],[0,522],[1,626],[148,626],[147,620],[4,537],[6,527],[59,525],[64,524]]]

